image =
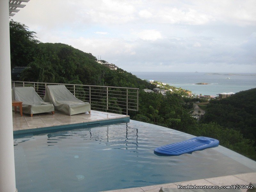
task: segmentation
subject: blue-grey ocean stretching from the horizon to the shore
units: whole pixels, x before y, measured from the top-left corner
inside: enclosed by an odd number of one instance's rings
[[[256,88],[255,73],[131,72],[140,79],[155,80],[192,91],[216,96],[222,92],[240,92]],[[208,83],[205,85],[196,83]]]

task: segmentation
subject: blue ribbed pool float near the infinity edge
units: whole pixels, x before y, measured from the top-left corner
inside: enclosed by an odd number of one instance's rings
[[[191,153],[193,151],[203,150],[206,148],[217,147],[219,140],[209,137],[194,137],[178,143],[164,145],[154,149],[156,154],[160,155],[181,155],[183,153]]]

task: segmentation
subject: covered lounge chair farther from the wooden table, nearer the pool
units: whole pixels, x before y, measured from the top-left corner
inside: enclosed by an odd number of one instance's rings
[[[44,101],[52,102],[57,111],[66,115],[91,112],[90,104],[77,99],[65,85],[47,85]]]

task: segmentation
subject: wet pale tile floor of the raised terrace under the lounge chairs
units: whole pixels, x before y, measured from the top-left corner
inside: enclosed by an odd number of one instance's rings
[[[119,115],[115,113],[107,113],[101,111],[91,111],[89,113],[83,114],[76,114],[72,116],[68,116],[65,114],[61,114],[55,112],[52,115],[51,112],[49,113],[40,113],[34,114],[31,117],[29,114],[24,114],[20,116],[20,113],[12,112],[12,123],[13,123],[13,131],[17,130],[25,130],[25,129],[34,129],[34,128],[41,128],[41,127],[50,127],[56,125],[66,125],[66,124],[77,124],[77,123],[84,123],[84,122],[94,122],[100,120],[108,120],[108,119],[120,119],[124,117],[129,117],[126,115]]]

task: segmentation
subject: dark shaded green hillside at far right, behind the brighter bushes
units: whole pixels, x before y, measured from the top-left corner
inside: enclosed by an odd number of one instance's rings
[[[207,106],[203,123],[215,122],[256,140],[256,88],[238,92],[231,97],[212,100]]]

